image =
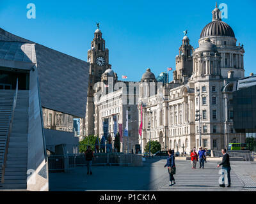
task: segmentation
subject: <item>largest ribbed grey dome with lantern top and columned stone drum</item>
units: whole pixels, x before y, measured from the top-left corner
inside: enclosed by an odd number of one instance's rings
[[[221,20],[221,11],[217,4],[212,11],[212,22],[205,25],[200,34],[199,45],[204,43],[206,38],[216,45],[221,55],[221,76],[227,78],[228,71],[234,71],[235,78],[244,77],[244,48],[236,45],[234,31],[230,25]]]

